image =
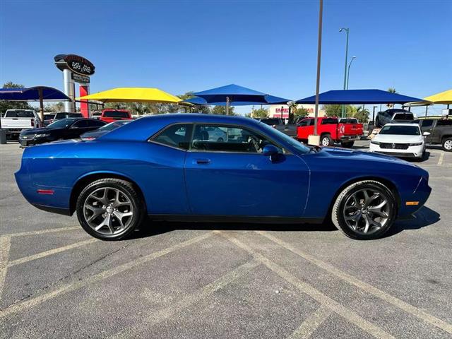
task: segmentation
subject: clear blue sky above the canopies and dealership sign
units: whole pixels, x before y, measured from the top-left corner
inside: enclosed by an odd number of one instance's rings
[[[56,54],[96,66],[91,92],[169,93],[237,83],[314,94],[318,1],[0,1],[0,82],[62,88]],[[343,87],[424,97],[452,87],[452,1],[324,0],[321,91]],[[448,41],[448,42],[447,42]],[[437,109],[442,107],[437,106]]]

